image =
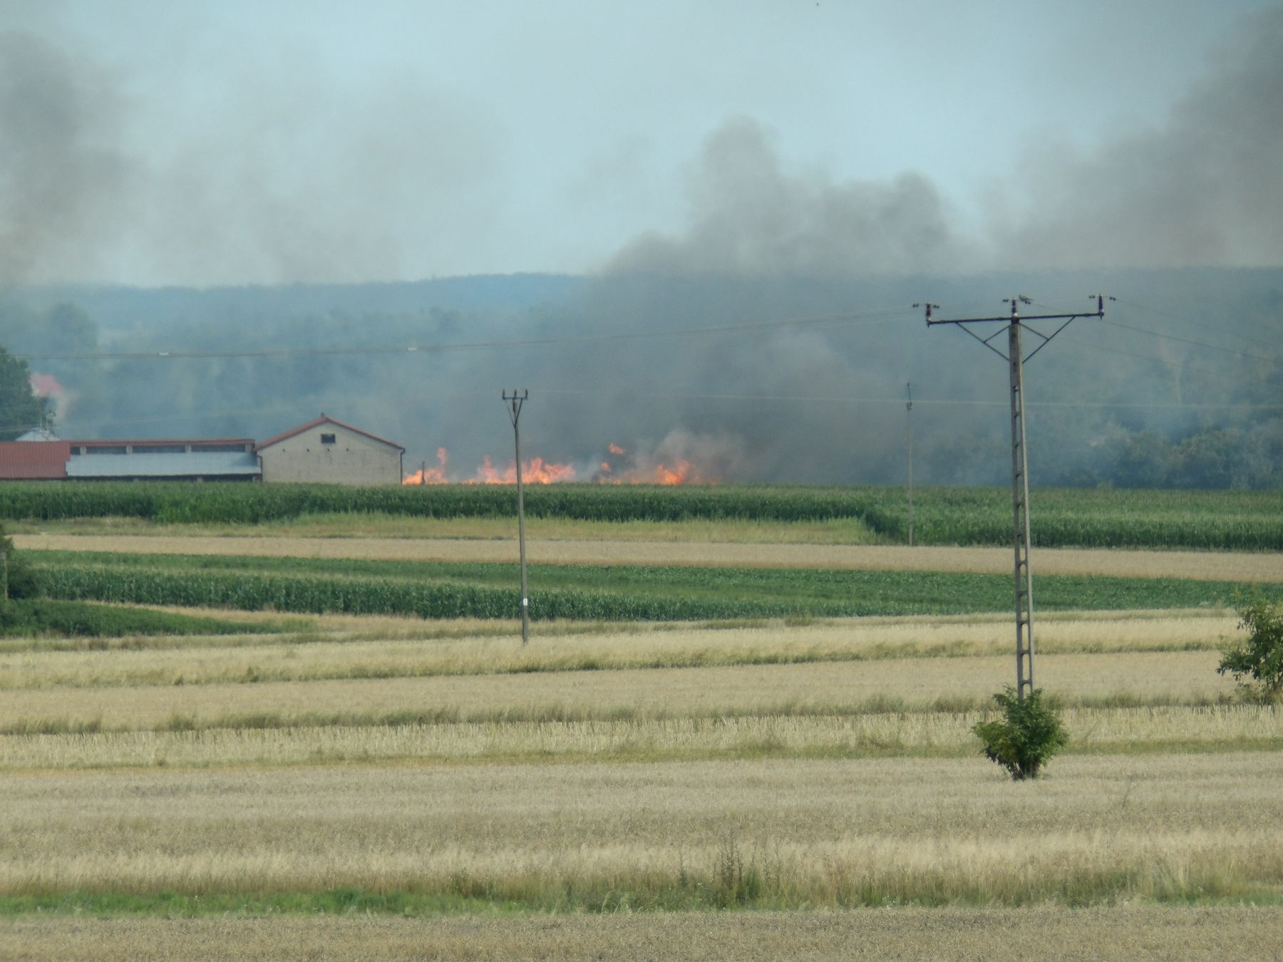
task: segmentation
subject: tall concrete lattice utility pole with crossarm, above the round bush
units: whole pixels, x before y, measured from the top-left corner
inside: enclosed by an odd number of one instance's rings
[[[1025,450],[1025,386],[1024,364],[1041,351],[1057,333],[1064,331],[1071,321],[1079,317],[1105,317],[1103,294],[1093,294],[1091,299],[1096,301],[1096,310],[1080,310],[1071,314],[1033,314],[1020,317],[1020,305],[1032,304],[1029,298],[1016,295],[1003,298],[1003,303],[1011,304],[1011,314],[1002,317],[967,317],[958,319],[937,319],[931,316],[933,309],[939,309],[939,304],[915,304],[913,307],[926,308],[926,326],[955,325],[961,327],[980,344],[992,350],[1007,362],[1011,375],[1011,513],[1012,513],[1012,545],[1015,548],[1015,585],[1016,585],[1016,694],[1021,702],[1025,695],[1034,690],[1034,582],[1033,572],[1029,567],[1029,457]],[[1110,300],[1114,300],[1110,298]],[[1049,335],[1026,327],[1030,321],[1060,321],[1061,325]],[[970,328],[971,325],[1006,323],[1007,353],[1003,354],[994,348],[992,341],[1001,333],[998,328],[988,337],[981,337]],[[1021,332],[1042,339],[1037,348],[1024,354],[1021,345]]]

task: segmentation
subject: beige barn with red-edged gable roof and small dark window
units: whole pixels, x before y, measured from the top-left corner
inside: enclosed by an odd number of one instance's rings
[[[405,449],[321,414],[255,449],[263,481],[399,485]]]

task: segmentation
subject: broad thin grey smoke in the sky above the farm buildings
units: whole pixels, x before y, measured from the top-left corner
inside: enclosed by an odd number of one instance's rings
[[[408,82],[336,94],[285,60],[239,60],[198,106],[151,91],[148,114],[123,71],[0,33],[0,283],[378,280],[430,269],[407,231],[484,228],[497,150],[466,105]],[[181,132],[140,133],[167,117]]]

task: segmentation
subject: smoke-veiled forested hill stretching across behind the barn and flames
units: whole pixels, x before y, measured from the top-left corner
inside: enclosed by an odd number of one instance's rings
[[[9,290],[0,345],[60,385],[63,436],[267,437],[323,410],[403,444],[407,466],[446,449],[455,480],[508,460],[499,392],[529,387],[523,451],[577,480],[613,445],[612,469],[898,482],[912,382],[915,478],[1001,484],[1005,364],[910,305],[1001,316],[1023,294],[1049,313],[1096,292],[1117,298],[1103,321],[1028,368],[1035,484],[1283,482],[1283,269]],[[65,357],[121,353],[148,357]]]

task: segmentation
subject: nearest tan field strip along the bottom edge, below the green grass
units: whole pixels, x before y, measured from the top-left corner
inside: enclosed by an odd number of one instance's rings
[[[861,908],[536,916],[0,920],[0,954],[32,962],[278,959],[1275,961],[1269,908]]]

